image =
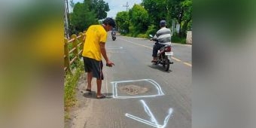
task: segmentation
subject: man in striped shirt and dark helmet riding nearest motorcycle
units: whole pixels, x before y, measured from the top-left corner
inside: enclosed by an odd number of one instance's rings
[[[154,35],[153,41],[157,41],[153,47],[153,60],[151,62],[157,62],[157,50],[165,45],[171,45],[171,30],[166,28],[166,20],[160,21],[160,29]]]

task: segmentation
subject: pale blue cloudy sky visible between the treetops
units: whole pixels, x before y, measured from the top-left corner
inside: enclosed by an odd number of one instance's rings
[[[84,2],[84,0],[73,0],[73,2]],[[128,2],[128,9],[133,8],[134,4],[141,4],[142,0],[104,0],[104,2],[108,3],[110,11],[108,11],[107,17],[113,17],[115,18],[117,15],[117,12],[119,11],[126,11],[126,7],[123,7],[123,5],[126,5],[126,2]],[[69,11],[72,12],[72,8],[69,6]]]

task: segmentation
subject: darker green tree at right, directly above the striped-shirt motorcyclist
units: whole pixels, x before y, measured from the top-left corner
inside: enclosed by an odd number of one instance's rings
[[[172,25],[172,20],[178,22],[181,25],[180,37],[184,37],[188,26],[191,26],[191,0],[142,0],[142,5],[148,11],[154,25],[158,26],[160,20],[166,20],[167,27]]]

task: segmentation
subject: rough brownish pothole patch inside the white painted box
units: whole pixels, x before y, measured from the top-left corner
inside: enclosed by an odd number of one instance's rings
[[[129,95],[137,95],[139,93],[146,93],[148,92],[148,88],[146,87],[139,87],[134,84],[126,85],[123,87],[119,87],[119,90],[123,93],[127,93]]]

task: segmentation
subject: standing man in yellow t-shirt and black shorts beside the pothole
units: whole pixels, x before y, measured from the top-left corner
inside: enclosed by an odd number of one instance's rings
[[[91,92],[92,79],[96,78],[97,83],[97,99],[105,98],[101,93],[102,88],[102,56],[106,61],[107,66],[114,66],[114,63],[108,59],[105,42],[107,41],[107,32],[115,27],[112,18],[103,20],[102,25],[92,25],[85,33],[84,50],[82,53],[84,59],[84,71],[87,72],[87,91]]]

